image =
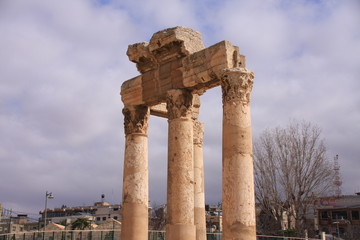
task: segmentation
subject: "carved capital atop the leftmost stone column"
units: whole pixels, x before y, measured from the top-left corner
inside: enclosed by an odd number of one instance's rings
[[[124,114],[124,128],[125,135],[132,133],[147,134],[148,120],[150,111],[145,105],[139,106],[125,106]]]

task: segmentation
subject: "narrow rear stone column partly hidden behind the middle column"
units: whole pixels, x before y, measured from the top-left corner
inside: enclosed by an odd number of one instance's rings
[[[194,222],[196,240],[206,240],[205,190],[204,190],[204,156],[203,156],[204,124],[194,121]]]

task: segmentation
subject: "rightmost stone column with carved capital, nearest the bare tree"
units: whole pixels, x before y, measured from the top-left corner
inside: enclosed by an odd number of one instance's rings
[[[227,69],[223,94],[222,209],[224,240],[255,240],[255,195],[250,120],[254,74]]]

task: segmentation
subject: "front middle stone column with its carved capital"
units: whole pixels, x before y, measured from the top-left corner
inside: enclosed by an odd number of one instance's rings
[[[195,240],[192,94],[167,93],[169,118],[167,240]]]

